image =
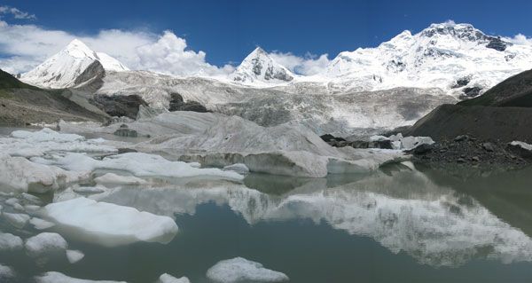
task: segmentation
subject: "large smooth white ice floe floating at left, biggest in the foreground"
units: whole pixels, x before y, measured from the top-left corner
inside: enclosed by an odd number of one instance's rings
[[[65,233],[104,246],[168,243],[177,233],[176,222],[168,216],[83,197],[51,203],[43,208],[43,216]]]

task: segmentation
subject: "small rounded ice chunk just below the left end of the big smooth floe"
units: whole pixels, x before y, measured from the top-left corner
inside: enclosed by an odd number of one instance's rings
[[[33,257],[64,253],[68,244],[56,232],[42,232],[26,240],[24,244],[27,254]]]

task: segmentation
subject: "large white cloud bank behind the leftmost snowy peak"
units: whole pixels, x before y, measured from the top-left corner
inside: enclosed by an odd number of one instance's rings
[[[27,72],[74,38],[94,51],[106,52],[130,69],[169,75],[220,75],[233,70],[229,65],[208,64],[205,52],[188,50],[186,41],[171,31],[157,35],[143,30],[105,29],[97,35],[74,35],[29,24],[12,25],[2,20],[0,68],[13,74]]]

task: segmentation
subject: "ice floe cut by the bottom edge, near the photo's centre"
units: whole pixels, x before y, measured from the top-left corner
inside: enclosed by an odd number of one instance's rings
[[[261,263],[235,257],[216,263],[207,271],[207,278],[220,283],[285,282],[288,276],[266,269]]]

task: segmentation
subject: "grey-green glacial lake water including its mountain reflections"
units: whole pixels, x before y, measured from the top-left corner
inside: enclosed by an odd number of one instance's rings
[[[167,272],[209,282],[209,267],[236,256],[291,282],[529,282],[532,169],[462,171],[399,165],[318,179],[252,174],[244,184],[115,187],[92,197],[172,216],[176,237],[109,248],[64,235],[85,254],[79,263],[35,263],[24,251],[0,253],[0,263],[17,272],[12,282],[44,271],[128,282],[154,282]],[[32,229],[0,222],[0,231],[23,239],[37,233]]]

